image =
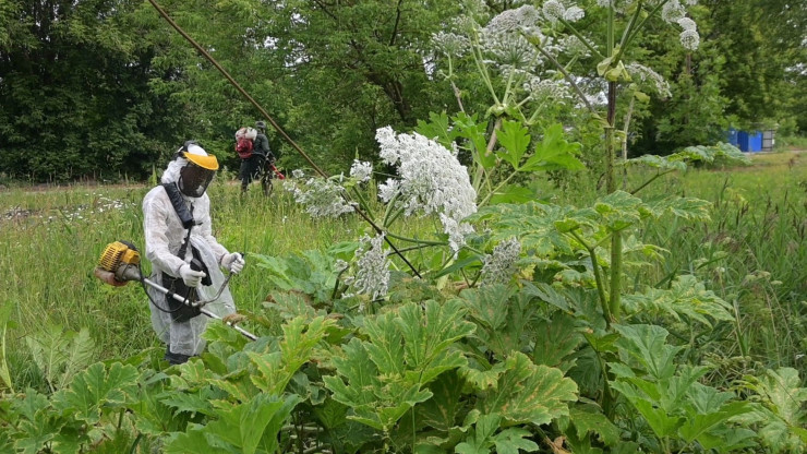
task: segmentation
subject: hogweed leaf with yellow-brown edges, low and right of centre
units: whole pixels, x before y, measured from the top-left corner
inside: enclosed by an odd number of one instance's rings
[[[577,401],[577,384],[558,369],[534,365],[520,353],[505,361],[497,386],[477,407],[483,414],[497,414],[510,423],[544,425],[569,414],[567,402]]]

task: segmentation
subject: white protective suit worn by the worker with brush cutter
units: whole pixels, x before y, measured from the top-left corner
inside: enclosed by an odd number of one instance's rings
[[[202,151],[201,147],[197,147]],[[197,152],[198,153],[198,152]],[[201,153],[204,153],[202,151]],[[206,156],[206,153],[205,153]],[[184,157],[177,157],[166,168],[161,177],[162,183],[176,183],[180,180],[181,169],[189,165]],[[240,271],[243,261],[240,254],[231,254],[227,249],[219,244],[213,236],[210,226],[210,199],[206,192],[201,196],[182,195],[189,210],[192,210],[195,225],[191,229],[190,244],[186,248],[185,256],[179,258],[177,253],[188,235],[188,230],[182,226],[179,215],[177,214],[171,201],[162,186],[158,186],[146,194],[143,199],[143,227],[145,231],[145,256],[152,263],[150,280],[162,283],[162,274],[171,277],[182,277],[180,268],[190,263],[193,259],[192,248],[197,249],[202,261],[207,267],[212,285],[196,287],[196,294],[202,301],[215,297],[221,288],[225,276],[219,266],[239,262],[238,268],[232,267],[234,272]],[[170,354],[184,356],[200,355],[205,348],[205,340],[202,339],[202,333],[207,324],[207,316],[197,315],[185,322],[172,320],[168,310],[166,296],[153,287],[148,287],[150,299],[160,306],[149,302],[152,310],[152,325],[160,339],[166,343]],[[225,288],[221,295],[214,301],[204,306],[204,309],[219,316],[225,316],[236,312],[236,306],[232,301],[229,288]],[[167,353],[167,359],[168,359]]]

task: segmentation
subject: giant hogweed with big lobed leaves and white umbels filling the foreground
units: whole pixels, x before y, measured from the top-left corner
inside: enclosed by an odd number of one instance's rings
[[[641,241],[643,226],[709,217],[704,201],[645,200],[640,191],[687,162],[742,160],[725,144],[615,158],[617,95],[666,89],[658,73],[624,61],[629,48],[661,16],[697,49],[686,16],[692,2],[588,2],[606,17],[599,40],[577,28],[589,10],[573,1],[515,3],[482,26],[486,7],[468,2],[457,29],[435,37],[442,50],[467,46],[449,56],[444,74],[454,83],[455,58],[470,59],[491,95],[486,111],[465,111],[455,85],[456,115],[434,113],[414,132],[380,129],[378,162],[395,175],[377,194],[371,180],[380,174],[364,162],[347,176],[296,171],[285,182],[311,216],[361,212],[373,229],[324,252],[253,254],[274,284],[265,308],[281,319],[279,330],[269,315],[251,314],[266,327],[256,342],[210,323],[207,351],[179,367],[146,351],[52,370],[49,395],[28,390],[0,406],[0,450],[804,451],[799,405],[807,397],[795,370],[746,377],[745,401],[706,380],[718,366],[700,363],[698,351],[732,328],[730,303],[694,275],[623,288],[624,275],[664,256],[664,248]],[[574,75],[583,57],[599,60],[594,82],[605,106]],[[525,184],[546,171],[583,169],[568,126],[543,117],[570,94],[570,107],[601,121],[609,164],[605,193],[585,207],[539,201]],[[617,164],[652,174],[617,190]],[[408,229],[415,217],[433,229]],[[80,339],[48,342],[84,351]]]

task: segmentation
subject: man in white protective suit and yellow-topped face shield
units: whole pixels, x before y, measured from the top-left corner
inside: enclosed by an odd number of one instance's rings
[[[221,288],[221,268],[239,273],[243,256],[229,252],[213,236],[210,199],[205,192],[218,170],[216,156],[189,141],[177,151],[162,172],[160,186],[143,199],[146,259],[153,282],[189,301],[203,303],[218,316],[236,312],[229,288]],[[165,359],[171,365],[188,361],[205,348],[202,333],[207,316],[198,307],[168,298],[148,287],[152,325],[166,343]]]

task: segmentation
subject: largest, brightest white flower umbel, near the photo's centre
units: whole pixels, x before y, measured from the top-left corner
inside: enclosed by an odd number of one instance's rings
[[[465,244],[462,235],[472,231],[462,219],[477,212],[477,191],[456,150],[449,152],[418,133],[396,135],[390,127],[378,129],[375,139],[381,158],[397,166],[399,176],[378,187],[380,198],[389,202],[397,195],[407,216],[439,214],[451,249],[459,251]]]

